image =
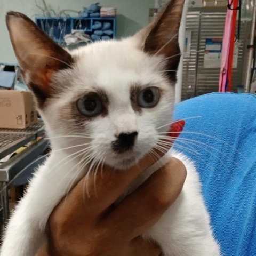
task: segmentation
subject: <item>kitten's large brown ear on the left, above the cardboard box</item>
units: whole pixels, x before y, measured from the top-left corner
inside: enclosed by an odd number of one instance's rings
[[[8,12],[6,25],[25,83],[34,92],[39,106],[43,105],[54,93],[50,85],[52,75],[70,67],[71,55],[22,13]]]

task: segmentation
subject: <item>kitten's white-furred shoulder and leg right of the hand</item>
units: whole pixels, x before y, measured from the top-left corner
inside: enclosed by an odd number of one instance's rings
[[[157,241],[165,256],[220,256],[195,166],[182,154],[172,156],[185,164],[187,178],[180,196],[145,237]]]

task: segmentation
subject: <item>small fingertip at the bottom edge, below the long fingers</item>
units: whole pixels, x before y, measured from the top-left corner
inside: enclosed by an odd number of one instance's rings
[[[156,243],[145,240],[141,236],[134,238],[130,243],[129,256],[159,256],[161,253],[161,249]]]

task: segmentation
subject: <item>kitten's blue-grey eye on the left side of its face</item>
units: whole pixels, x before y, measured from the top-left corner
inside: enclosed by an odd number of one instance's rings
[[[102,110],[102,103],[99,95],[96,93],[85,96],[77,101],[77,109],[86,117],[93,117],[99,115]]]

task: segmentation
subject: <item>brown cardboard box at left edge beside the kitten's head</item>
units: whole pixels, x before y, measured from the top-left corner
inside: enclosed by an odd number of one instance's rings
[[[31,92],[0,90],[0,128],[26,128],[36,123],[37,111]]]

